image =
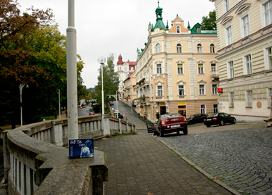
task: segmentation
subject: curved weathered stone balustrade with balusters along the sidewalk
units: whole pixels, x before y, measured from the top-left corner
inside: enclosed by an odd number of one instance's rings
[[[103,194],[107,157],[68,158],[67,119],[47,120],[3,132],[8,194]],[[79,138],[135,132],[135,125],[109,115],[78,119]]]

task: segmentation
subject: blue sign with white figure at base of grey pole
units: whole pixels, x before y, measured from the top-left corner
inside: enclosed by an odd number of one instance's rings
[[[69,158],[94,157],[93,139],[69,139]]]

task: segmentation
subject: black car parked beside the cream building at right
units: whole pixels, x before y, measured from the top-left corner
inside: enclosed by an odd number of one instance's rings
[[[216,114],[210,114],[204,119],[204,125],[211,127],[211,125],[225,125],[226,123],[235,124],[236,118],[226,114],[225,112],[219,112]]]

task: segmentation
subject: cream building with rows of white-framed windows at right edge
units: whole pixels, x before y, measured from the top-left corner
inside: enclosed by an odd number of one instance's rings
[[[272,109],[272,1],[210,0],[216,6],[220,111],[268,117]]]

